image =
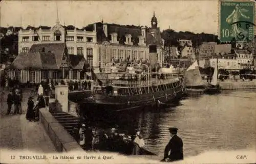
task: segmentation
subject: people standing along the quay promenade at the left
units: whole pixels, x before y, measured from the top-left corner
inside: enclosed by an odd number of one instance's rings
[[[61,85],[68,85],[70,91],[74,90],[91,90],[92,83],[91,80],[60,80]],[[40,107],[45,107],[49,102],[50,96],[53,94],[52,90],[55,89],[55,86],[59,84],[57,80],[41,81],[39,85],[31,91],[28,98],[28,108],[26,119],[29,121],[38,120],[38,109]],[[30,88],[32,84],[30,81],[27,81],[25,85],[19,83],[18,80],[12,80],[10,78],[3,78],[1,81],[1,87],[7,88],[10,90],[7,96],[7,115],[11,114],[12,109],[14,109],[13,114],[22,114],[22,101],[23,101],[23,89]],[[11,88],[11,89],[10,89]],[[37,92],[38,91],[38,92]],[[37,93],[37,101],[34,103],[33,94]],[[44,100],[44,101],[42,101]],[[40,103],[39,103],[40,102]],[[34,113],[35,115],[33,115]]]

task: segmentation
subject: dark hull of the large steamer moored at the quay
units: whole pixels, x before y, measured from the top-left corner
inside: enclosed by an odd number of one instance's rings
[[[183,87],[130,96],[97,95],[96,101],[80,102],[79,108],[83,113],[109,114],[111,112],[132,111],[146,106],[155,106],[156,100],[166,103],[178,102],[183,95]]]

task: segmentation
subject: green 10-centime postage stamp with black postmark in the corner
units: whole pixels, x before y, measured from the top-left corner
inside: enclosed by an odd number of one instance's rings
[[[220,40],[250,41],[254,36],[254,2],[220,1]]]

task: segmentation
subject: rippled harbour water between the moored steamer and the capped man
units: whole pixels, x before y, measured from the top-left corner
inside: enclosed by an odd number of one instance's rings
[[[177,127],[183,140],[184,157],[188,157],[216,150],[255,150],[255,106],[256,90],[232,90],[188,97],[177,106],[161,111],[115,113],[113,120],[99,120],[104,125],[117,124],[129,133],[141,130],[146,148],[160,156],[170,139],[168,127]]]

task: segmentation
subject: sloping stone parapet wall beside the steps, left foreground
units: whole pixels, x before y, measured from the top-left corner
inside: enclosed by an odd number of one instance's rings
[[[58,152],[83,151],[75,139],[46,108],[40,108],[39,119]]]

